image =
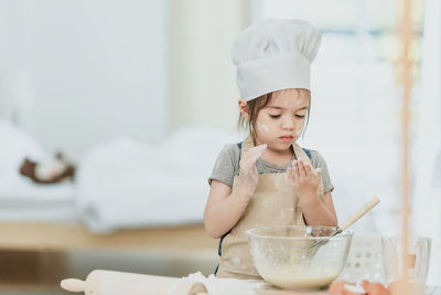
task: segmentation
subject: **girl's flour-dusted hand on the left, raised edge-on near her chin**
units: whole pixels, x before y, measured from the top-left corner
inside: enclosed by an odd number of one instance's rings
[[[240,159],[240,186],[246,193],[252,194],[258,183],[256,161],[261,157],[267,144],[250,148]]]

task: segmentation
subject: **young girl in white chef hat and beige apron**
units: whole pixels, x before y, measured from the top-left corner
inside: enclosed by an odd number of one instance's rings
[[[319,45],[310,23],[282,19],[251,25],[233,44],[239,124],[249,136],[224,147],[208,179],[204,223],[220,238],[218,277],[260,278],[248,229],[337,224],[325,161],[295,144],[308,122],[310,63]]]

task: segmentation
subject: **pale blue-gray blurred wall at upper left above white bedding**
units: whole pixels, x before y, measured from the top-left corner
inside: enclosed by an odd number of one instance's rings
[[[119,135],[159,140],[168,128],[165,7],[0,0],[0,116],[73,158]]]

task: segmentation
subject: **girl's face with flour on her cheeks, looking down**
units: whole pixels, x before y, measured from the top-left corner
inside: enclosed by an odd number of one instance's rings
[[[310,96],[303,89],[272,93],[272,99],[260,109],[256,119],[256,144],[269,149],[286,150],[302,135]]]

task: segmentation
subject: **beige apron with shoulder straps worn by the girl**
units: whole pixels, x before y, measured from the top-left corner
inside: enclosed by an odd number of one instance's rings
[[[252,139],[248,136],[241,146],[241,155],[252,148]],[[293,146],[295,157],[311,162],[304,150],[297,144]],[[259,175],[258,186],[250,202],[239,221],[222,242],[220,263],[217,277],[261,278],[254,266],[245,232],[248,229],[272,225],[304,224],[302,209],[295,193],[290,188],[287,173]],[[233,191],[239,183],[239,178],[233,181]],[[318,187],[319,196],[323,197],[323,181]]]

